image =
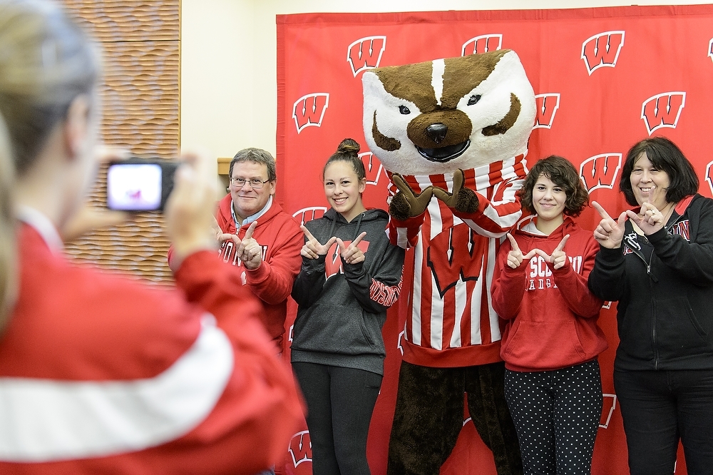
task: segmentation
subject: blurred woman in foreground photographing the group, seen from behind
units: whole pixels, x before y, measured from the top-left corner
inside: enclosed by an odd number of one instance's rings
[[[97,169],[96,46],[59,3],[0,0],[0,51],[0,289],[19,282],[16,299],[1,290],[0,473],[251,475],[284,459],[302,407],[260,302],[217,255],[210,157],[183,155],[165,208],[177,288],[73,265],[61,230]]]

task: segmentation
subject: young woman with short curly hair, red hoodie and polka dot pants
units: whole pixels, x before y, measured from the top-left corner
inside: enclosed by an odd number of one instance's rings
[[[587,288],[597,242],[572,219],[588,193],[572,163],[535,164],[520,190],[533,216],[498,252],[493,309],[506,320],[505,397],[525,474],[591,473],[602,412],[597,325],[602,300]]]

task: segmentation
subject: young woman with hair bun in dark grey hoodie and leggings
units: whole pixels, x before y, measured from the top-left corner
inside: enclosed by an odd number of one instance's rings
[[[364,207],[359,143],[339,144],[322,178],[331,208],[302,226],[292,369],[307,400],[314,475],[368,475],[366,437],[384,375],[381,327],[401,290],[404,250],[384,210]]]

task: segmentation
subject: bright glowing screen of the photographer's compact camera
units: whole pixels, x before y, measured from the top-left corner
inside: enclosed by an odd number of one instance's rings
[[[161,205],[161,166],[120,163],[106,173],[106,205],[113,210],[157,210]]]

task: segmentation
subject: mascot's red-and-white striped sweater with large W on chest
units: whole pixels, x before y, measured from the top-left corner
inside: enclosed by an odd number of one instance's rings
[[[517,191],[523,156],[464,170],[464,188],[478,195],[475,213],[437,200],[409,220],[391,218],[392,243],[408,248],[396,305],[406,321],[404,360],[426,367],[465,367],[501,361],[501,322],[490,289],[500,240],[522,215]],[[404,175],[420,193],[429,185],[451,192],[453,175]],[[391,183],[390,193],[397,188]]]

